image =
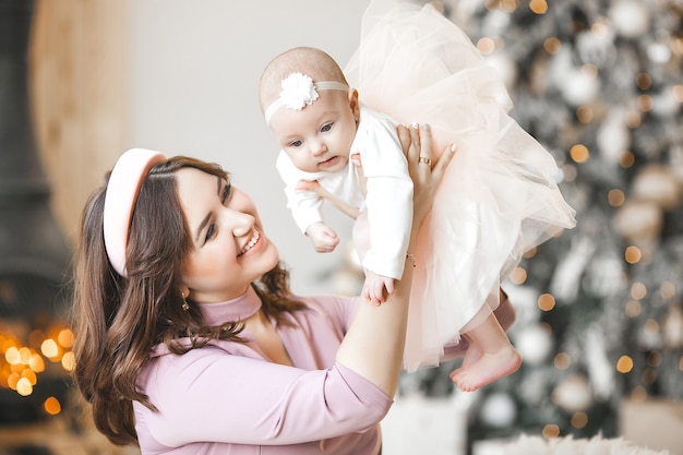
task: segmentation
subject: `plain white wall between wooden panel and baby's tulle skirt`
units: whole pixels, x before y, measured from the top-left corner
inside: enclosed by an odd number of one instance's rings
[[[319,274],[342,246],[315,253],[285,207],[277,148],[257,104],[263,67],[293,46],[326,50],[344,67],[359,43],[369,0],[129,0],[129,147],[223,165],[256,202],[267,236],[302,294],[334,291]],[[350,220],[331,212],[348,236]]]

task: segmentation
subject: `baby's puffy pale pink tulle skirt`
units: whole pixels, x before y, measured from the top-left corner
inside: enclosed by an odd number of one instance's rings
[[[435,366],[498,304],[522,255],[575,226],[575,211],[552,156],[507,115],[500,74],[433,7],[372,2],[345,71],[368,107],[428,123],[435,155],[458,147],[415,251],[404,367]]]

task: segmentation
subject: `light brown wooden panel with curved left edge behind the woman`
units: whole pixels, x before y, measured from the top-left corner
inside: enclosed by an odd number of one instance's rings
[[[81,209],[125,143],[127,1],[36,0],[34,125],[52,208],[71,242]]]

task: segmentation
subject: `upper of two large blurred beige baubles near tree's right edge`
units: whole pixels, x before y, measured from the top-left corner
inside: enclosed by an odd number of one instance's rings
[[[633,196],[651,201],[664,211],[681,204],[681,187],[673,172],[658,164],[644,166],[636,175],[632,188]]]

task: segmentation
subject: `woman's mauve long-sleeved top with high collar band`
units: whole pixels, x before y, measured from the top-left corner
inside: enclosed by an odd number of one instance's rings
[[[297,325],[276,325],[295,368],[272,363],[251,343],[211,342],[182,356],[157,346],[139,385],[158,412],[133,404],[142,453],[379,454],[379,422],[393,399],[335,362],[357,299],[299,300],[308,310],[291,315]],[[202,311],[218,325],[260,306],[250,288]]]

